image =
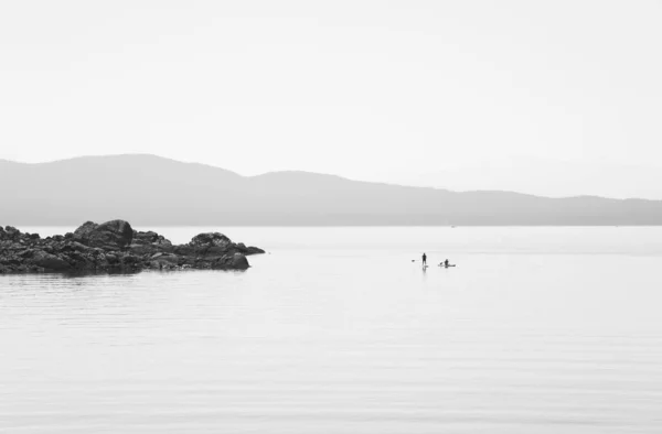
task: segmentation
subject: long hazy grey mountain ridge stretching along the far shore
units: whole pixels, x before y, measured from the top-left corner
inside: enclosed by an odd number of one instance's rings
[[[662,202],[456,193],[306,172],[242,176],[154,155],[0,160],[0,225],[661,225]]]

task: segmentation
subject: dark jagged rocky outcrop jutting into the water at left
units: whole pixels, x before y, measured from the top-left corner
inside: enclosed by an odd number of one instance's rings
[[[257,247],[234,243],[218,232],[200,234],[173,246],[128,221],[87,221],[74,232],[41,238],[0,226],[0,274],[33,272],[137,272],[141,270],[246,270]]]

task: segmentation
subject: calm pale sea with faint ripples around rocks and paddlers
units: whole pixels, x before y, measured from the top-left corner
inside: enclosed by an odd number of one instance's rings
[[[0,276],[0,432],[662,432],[662,228],[209,229],[268,254]]]

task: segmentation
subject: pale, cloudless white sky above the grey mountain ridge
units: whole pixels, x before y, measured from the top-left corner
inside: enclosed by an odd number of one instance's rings
[[[662,199],[662,1],[0,1],[0,159]]]

